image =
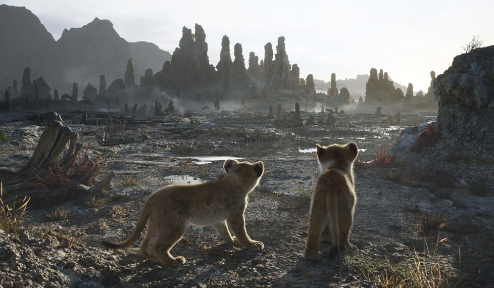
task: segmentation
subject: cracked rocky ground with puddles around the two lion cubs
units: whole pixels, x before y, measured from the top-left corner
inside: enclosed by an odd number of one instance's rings
[[[26,116],[0,116],[0,131],[6,138],[0,141],[0,168],[15,171],[29,160],[43,127],[29,125]],[[88,116],[90,123],[95,122],[95,114]],[[126,143],[105,146],[98,142],[101,131],[95,126],[77,124],[80,115],[62,115],[80,133],[79,141],[91,144],[90,155],[101,153],[108,159],[102,173],[117,172],[114,187],[95,196],[74,196],[62,204],[33,199],[17,234],[0,231],[2,287],[366,287],[386,286],[386,279],[391,287],[399,284],[393,277],[410,279],[419,271],[427,278],[435,267],[442,271],[443,284],[494,283],[492,194],[475,196],[461,181],[443,183],[423,177],[407,163],[356,169],[359,200],[351,239],[358,253],[329,260],[330,245],[322,244],[322,261],[301,257],[310,193],[318,174],[310,149],[316,143],[354,141],[361,160],[367,162],[384,147],[389,150],[404,128],[433,115],[405,114],[402,124],[383,127],[384,118],[347,114],[337,115],[336,127],[300,128],[277,128],[274,123],[279,119],[246,111],[162,120],[145,116],[115,132],[118,141]],[[309,113],[302,116],[306,119]],[[114,123],[114,127],[121,126]],[[194,159],[206,156],[264,161],[265,175],[246,211],[246,229],[265,244],[263,251],[224,245],[212,227],[194,226],[172,250],[187,260],[179,268],[146,261],[138,242],[119,251],[101,245],[102,239],[130,234],[153,190],[220,175],[222,160]],[[46,215],[60,207],[67,217],[48,220]],[[434,220],[439,229],[427,224]]]

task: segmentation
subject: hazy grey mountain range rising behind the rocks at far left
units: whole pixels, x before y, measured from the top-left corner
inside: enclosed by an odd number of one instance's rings
[[[171,55],[153,43],[129,43],[109,20],[94,20],[80,28],[65,29],[59,40],[25,7],[0,6],[0,89],[16,79],[21,86],[22,72],[31,68],[31,79],[43,76],[59,92],[70,93],[72,83],[82,91],[88,82],[99,85],[105,75],[107,86],[123,78],[129,59],[136,62],[136,83],[147,68],[161,70]],[[81,93],[79,93],[81,94]]]

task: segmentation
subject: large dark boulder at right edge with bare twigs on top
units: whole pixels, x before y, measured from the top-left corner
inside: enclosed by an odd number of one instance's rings
[[[437,120],[403,131],[390,153],[413,159],[430,175],[439,171],[466,183],[494,178],[493,67],[494,46],[455,57],[434,81]]]

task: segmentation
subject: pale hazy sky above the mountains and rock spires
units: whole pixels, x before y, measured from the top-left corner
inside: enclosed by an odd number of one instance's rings
[[[182,26],[203,26],[216,66],[223,35],[264,58],[267,42],[285,36],[290,64],[301,77],[329,81],[383,69],[415,92],[427,91],[431,70],[441,74],[473,34],[494,44],[494,1],[66,1],[3,0],[25,6],[57,40],[64,28],[108,19],[127,41],[149,41],[173,53]],[[155,71],[156,72],[156,71]]]

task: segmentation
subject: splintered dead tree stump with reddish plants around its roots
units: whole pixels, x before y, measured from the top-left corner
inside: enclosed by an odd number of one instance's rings
[[[102,181],[95,181],[104,163],[99,157],[92,160],[85,155],[76,164],[82,149],[78,134],[61,121],[45,126],[31,159],[18,172],[0,171],[3,182],[4,203],[21,201],[34,195],[62,196],[68,190],[92,193],[111,185],[115,172]],[[65,154],[63,152],[65,151]]]

